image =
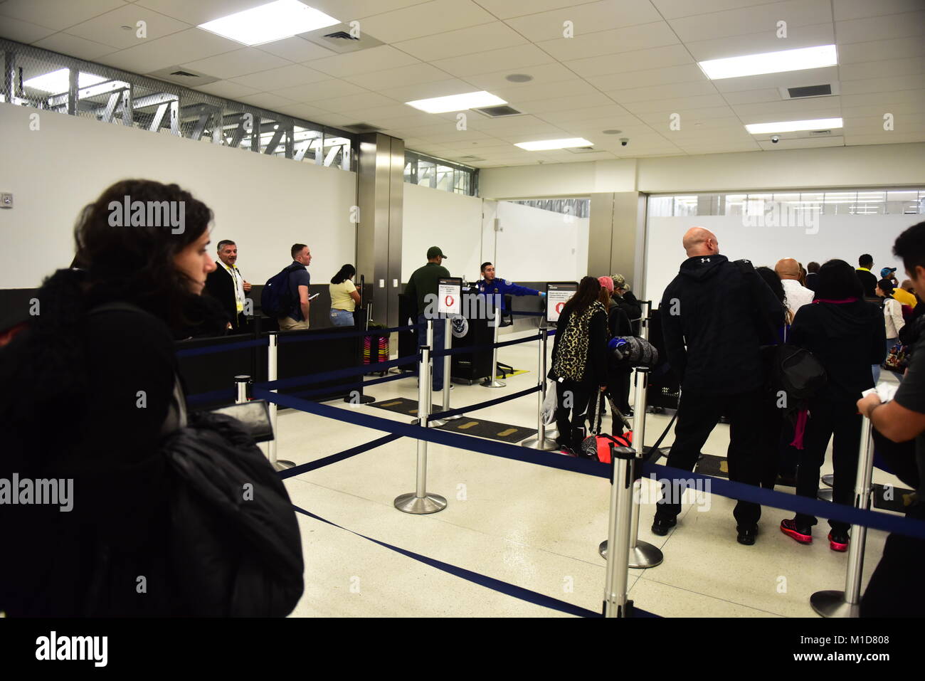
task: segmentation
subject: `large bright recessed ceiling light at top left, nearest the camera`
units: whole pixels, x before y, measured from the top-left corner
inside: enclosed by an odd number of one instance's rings
[[[259,45],[339,23],[338,19],[303,5],[299,0],[277,0],[268,5],[229,14],[228,17],[206,21],[199,28],[238,43]]]

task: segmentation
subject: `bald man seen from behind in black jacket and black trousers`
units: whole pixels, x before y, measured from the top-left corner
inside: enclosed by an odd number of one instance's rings
[[[780,328],[783,308],[751,263],[731,263],[720,254],[709,229],[688,229],[683,243],[687,259],[660,305],[665,352],[682,389],[668,465],[693,470],[700,448],[726,415],[729,479],[757,486],[761,463],[755,438],[764,384],[759,339],[770,325]],[[676,525],[682,492],[678,481],[662,489],[655,534],[665,535]],[[760,515],[757,503],[736,504],[739,543],[755,543]]]

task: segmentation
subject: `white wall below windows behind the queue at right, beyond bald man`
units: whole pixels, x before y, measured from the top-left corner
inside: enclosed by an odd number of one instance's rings
[[[818,232],[803,227],[749,227],[741,216],[649,217],[646,242],[645,296],[658,305],[665,287],[678,273],[686,255],[681,239],[695,225],[716,234],[720,253],[730,260],[747,258],[755,266],[773,267],[784,257],[807,266],[840,258],[857,267],[857,256],[873,256],[874,274],[881,267],[897,267],[897,279],[905,279],[903,264],[891,250],[895,238],[921,216],[820,216]],[[747,218],[746,218],[747,219]]]

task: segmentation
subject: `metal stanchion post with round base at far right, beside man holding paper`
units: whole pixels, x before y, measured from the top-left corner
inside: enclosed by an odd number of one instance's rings
[[[855,508],[870,510],[873,479],[873,447],[870,440],[870,419],[861,417],[861,444],[857,457],[855,478]],[[848,546],[848,565],[845,571],[845,590],[816,591],[809,597],[809,604],[823,617],[857,617],[861,602],[861,576],[864,569],[864,545],[867,542],[867,526],[851,526],[851,542]]]

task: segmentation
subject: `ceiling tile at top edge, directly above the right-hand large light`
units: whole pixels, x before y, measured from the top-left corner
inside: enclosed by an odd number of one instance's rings
[[[669,24],[683,43],[689,43],[754,33],[761,27],[767,27],[767,32],[775,35],[778,21],[787,22],[788,34],[791,28],[831,22],[831,0],[789,0],[669,19]],[[789,41],[784,44],[789,45]]]

